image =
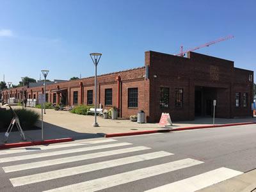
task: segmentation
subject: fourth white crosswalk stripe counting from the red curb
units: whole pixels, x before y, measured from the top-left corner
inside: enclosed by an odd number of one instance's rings
[[[61,170],[54,170],[51,172],[38,173],[38,174],[28,175],[28,176],[23,176],[23,177],[16,177],[16,178],[10,179],[10,181],[12,182],[13,187],[24,186],[26,184],[42,182],[44,180],[57,179],[57,178],[67,177],[70,175],[77,175],[77,174],[81,174],[81,173],[88,173],[88,172],[93,172],[96,170],[102,170],[105,168],[111,168],[111,167],[115,167],[115,166],[129,164],[129,163],[137,163],[140,161],[157,159],[160,157],[171,156],[171,155],[173,155],[173,154],[164,152],[164,151],[152,152],[152,153],[148,153],[148,154],[141,154],[138,156],[124,157],[124,158],[114,159],[114,160],[110,160],[110,161],[102,161],[99,163],[86,164],[86,165],[82,165],[82,166],[65,168],[65,169],[61,169]]]

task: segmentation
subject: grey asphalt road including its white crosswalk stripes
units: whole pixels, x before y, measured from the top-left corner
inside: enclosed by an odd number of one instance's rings
[[[195,191],[255,169],[255,136],[243,125],[3,150],[0,191]]]

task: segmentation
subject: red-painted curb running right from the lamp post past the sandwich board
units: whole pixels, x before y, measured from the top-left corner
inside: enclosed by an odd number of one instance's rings
[[[204,126],[194,126],[194,127],[180,127],[180,128],[175,128],[175,129],[160,129],[160,130],[152,130],[152,131],[109,133],[109,134],[105,134],[105,138],[112,138],[112,137],[119,137],[119,136],[131,136],[131,135],[139,135],[139,134],[151,134],[151,133],[156,133],[156,132],[185,131],[185,130],[192,130],[192,129],[230,127],[230,126],[250,125],[250,124],[256,124],[256,122],[245,122],[245,123],[223,124],[223,125],[204,125]]]

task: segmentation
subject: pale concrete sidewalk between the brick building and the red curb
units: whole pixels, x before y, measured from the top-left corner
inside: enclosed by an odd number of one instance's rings
[[[20,108],[20,107],[13,107]],[[38,113],[41,109],[27,108]],[[212,125],[212,118],[196,118],[194,121],[175,122],[172,127],[161,127],[158,124],[138,124],[131,122],[131,120],[111,120],[97,118],[100,127],[92,127],[94,116],[77,115],[69,113],[68,111],[54,111],[54,109],[46,109],[44,115],[44,139],[68,138],[72,137],[74,140],[84,138],[97,138],[105,134],[122,133],[122,132],[136,132],[136,131],[153,131],[163,129],[176,129],[181,127],[195,127],[203,125]],[[222,119],[216,118],[216,125],[234,124],[241,122],[256,122],[256,118],[244,119]],[[38,122],[40,127],[40,122]],[[41,140],[41,130],[24,131],[28,141]],[[3,138],[4,133],[0,133],[0,138]],[[12,132],[8,143],[20,141],[19,132]],[[0,139],[0,144],[3,139]]]

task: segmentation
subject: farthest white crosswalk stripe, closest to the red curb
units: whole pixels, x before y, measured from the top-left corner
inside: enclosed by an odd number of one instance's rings
[[[16,154],[16,153],[22,153],[22,152],[34,152],[34,151],[41,151],[41,150],[47,150],[47,149],[53,149],[53,148],[63,148],[63,147],[76,147],[76,146],[83,146],[83,145],[90,145],[90,144],[96,144],[96,143],[108,143],[113,142],[116,140],[95,140],[95,141],[88,141],[88,142],[79,142],[79,143],[65,143],[65,144],[59,144],[59,145],[33,145],[31,147],[19,147],[19,148],[10,148],[0,151],[0,155],[6,155],[6,154]]]

